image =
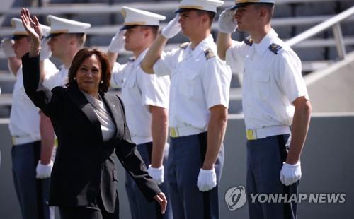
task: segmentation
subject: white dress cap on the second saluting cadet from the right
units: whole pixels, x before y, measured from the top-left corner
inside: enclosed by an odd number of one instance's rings
[[[201,10],[217,12],[217,7],[222,6],[224,1],[219,0],[182,0],[175,13],[188,10]]]

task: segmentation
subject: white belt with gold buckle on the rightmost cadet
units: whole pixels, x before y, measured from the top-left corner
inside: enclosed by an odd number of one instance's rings
[[[256,140],[282,134],[290,134],[290,126],[268,126],[262,129],[246,129],[247,140]]]

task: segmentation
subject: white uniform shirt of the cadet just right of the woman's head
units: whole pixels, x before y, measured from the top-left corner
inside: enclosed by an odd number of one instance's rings
[[[127,64],[115,63],[112,75],[112,83],[122,87],[127,125],[136,144],[152,141],[152,115],[147,106],[169,107],[169,77],[149,75],[140,68],[146,52]]]

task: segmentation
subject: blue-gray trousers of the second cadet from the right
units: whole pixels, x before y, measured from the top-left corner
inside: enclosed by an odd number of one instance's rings
[[[215,172],[217,187],[210,191],[199,191],[198,174],[204,162],[207,149],[207,133],[171,138],[167,177],[169,195],[176,219],[217,219],[219,218],[219,182],[224,164],[222,146]]]

